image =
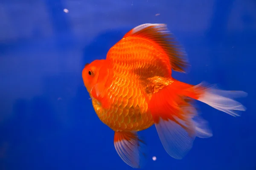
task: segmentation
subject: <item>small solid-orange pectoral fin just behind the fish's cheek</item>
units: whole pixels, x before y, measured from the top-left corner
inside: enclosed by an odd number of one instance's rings
[[[90,94],[102,105],[102,108],[107,109],[110,107],[110,99],[105,91],[105,86],[103,84],[97,83],[94,85],[90,91]]]

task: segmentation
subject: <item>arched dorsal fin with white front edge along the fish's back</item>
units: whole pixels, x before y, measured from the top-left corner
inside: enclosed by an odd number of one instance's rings
[[[174,71],[185,72],[188,66],[185,51],[167,30],[166,24],[142,24],[131,29],[125,37],[143,37],[160,45],[169,57]]]

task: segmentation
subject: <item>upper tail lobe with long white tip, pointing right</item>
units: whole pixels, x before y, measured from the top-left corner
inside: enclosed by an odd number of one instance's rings
[[[239,113],[241,111],[246,111],[246,108],[235,100],[235,98],[247,96],[247,93],[244,91],[220,90],[214,85],[207,85],[205,82],[195,85],[187,89],[187,91],[189,92],[189,97],[204,102],[232,116],[240,116]]]

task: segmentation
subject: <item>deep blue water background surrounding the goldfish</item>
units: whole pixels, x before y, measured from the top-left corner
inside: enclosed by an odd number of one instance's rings
[[[143,23],[166,23],[186,49],[192,67],[176,79],[248,93],[241,117],[197,103],[213,136],[195,139],[182,160],[166,153],[154,126],[141,132],[145,169],[255,170],[255,9],[255,0],[0,0],[0,170],[132,169],[81,71]]]

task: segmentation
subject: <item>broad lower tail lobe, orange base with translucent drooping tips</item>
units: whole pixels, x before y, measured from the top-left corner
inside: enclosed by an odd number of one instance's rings
[[[196,136],[212,136],[206,122],[193,119],[196,109],[192,100],[183,96],[182,88],[182,84],[174,82],[160,89],[148,106],[163,147],[175,159],[182,159],[189,152]]]

